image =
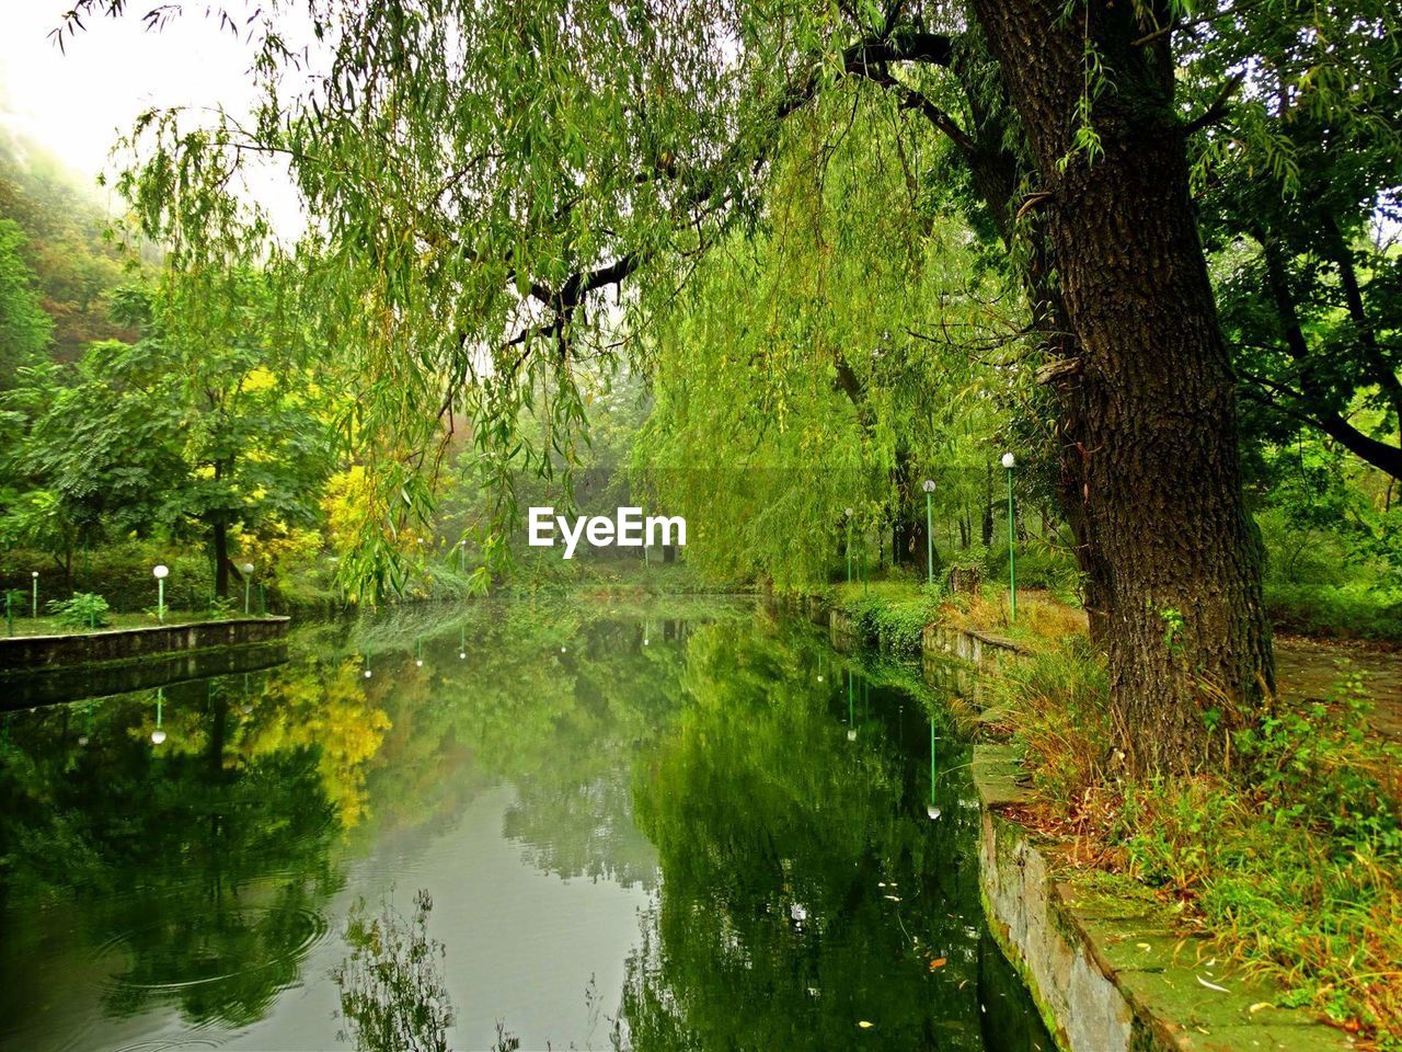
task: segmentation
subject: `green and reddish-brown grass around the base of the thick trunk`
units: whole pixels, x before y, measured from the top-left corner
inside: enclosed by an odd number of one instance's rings
[[[1286,1006],[1402,1049],[1402,753],[1367,735],[1357,680],[1267,707],[1227,770],[1150,781],[1108,769],[1105,669],[1084,641],[993,687],[1032,773],[1032,822],[1068,857],[1175,903]]]

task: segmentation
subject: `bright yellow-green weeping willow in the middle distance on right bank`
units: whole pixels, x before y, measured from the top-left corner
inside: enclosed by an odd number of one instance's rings
[[[851,547],[924,571],[921,483],[944,512],[991,460],[1026,318],[928,187],[945,150],[892,100],[834,90],[785,129],[756,227],[659,318],[635,459],[702,568],[795,588]]]

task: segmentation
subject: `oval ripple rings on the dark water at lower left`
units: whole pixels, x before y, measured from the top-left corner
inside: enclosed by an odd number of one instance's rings
[[[328,930],[329,923],[315,910],[238,906],[207,916],[156,919],[112,936],[93,951],[93,959],[111,961],[114,973],[102,983],[108,990],[178,993],[296,965]]]

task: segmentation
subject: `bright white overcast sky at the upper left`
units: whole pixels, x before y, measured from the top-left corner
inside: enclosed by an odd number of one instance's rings
[[[0,0],[0,125],[53,153],[81,185],[95,187],[114,143],[143,109],[223,102],[247,112],[248,50],[203,17],[203,4],[188,3],[188,14],[149,32],[140,15],[154,4],[135,0],[123,18],[84,20],[87,31],[64,36],[63,53],[49,32],[72,6]],[[252,187],[280,230],[296,226],[300,210],[285,173]],[[108,191],[94,192],[121,208]]]

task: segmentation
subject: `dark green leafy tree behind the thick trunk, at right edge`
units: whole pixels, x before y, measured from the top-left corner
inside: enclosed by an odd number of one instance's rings
[[[1248,426],[1277,440],[1318,429],[1396,478],[1402,300],[1384,236],[1402,216],[1394,15],[1329,3],[1295,32],[1274,6],[1248,8],[1235,25],[1193,27],[1186,46],[1203,112],[1195,184]]]

